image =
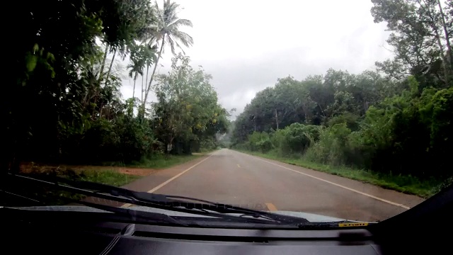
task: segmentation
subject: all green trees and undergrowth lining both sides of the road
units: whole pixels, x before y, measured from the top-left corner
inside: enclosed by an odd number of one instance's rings
[[[393,59],[360,74],[278,79],[231,125],[211,75],[183,54],[193,24],[174,1],[15,1],[14,18],[25,25],[5,32],[13,40],[4,56],[0,169],[160,169],[224,146],[430,196],[453,174],[453,2],[372,3],[374,21],[391,32]],[[159,73],[164,52],[172,64]],[[120,93],[126,79],[131,98]],[[70,167],[33,174],[115,186],[137,178]]]

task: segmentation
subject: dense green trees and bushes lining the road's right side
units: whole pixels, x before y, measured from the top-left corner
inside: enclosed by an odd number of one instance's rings
[[[278,79],[235,120],[233,147],[385,174],[453,174],[452,1],[372,2],[394,59],[361,74]]]

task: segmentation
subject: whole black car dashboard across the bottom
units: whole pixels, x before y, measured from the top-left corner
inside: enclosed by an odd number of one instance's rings
[[[98,212],[0,208],[12,254],[451,254],[452,188],[365,228],[176,227]]]

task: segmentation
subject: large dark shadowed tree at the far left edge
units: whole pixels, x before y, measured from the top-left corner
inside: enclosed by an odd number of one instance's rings
[[[128,142],[120,142],[123,131],[134,130],[136,136],[127,137],[145,141],[151,129],[147,123],[138,128],[133,118],[125,117],[120,76],[114,69],[105,75],[108,49],[102,49],[97,41],[102,38],[109,48],[122,49],[139,39],[154,19],[151,9],[145,8],[149,2],[48,4],[52,8],[33,1],[13,3],[14,22],[26,26],[21,31],[8,31],[17,41],[8,43],[7,51],[14,53],[8,55],[9,96],[1,107],[5,120],[2,146],[9,152],[1,159],[2,169],[17,171],[18,162],[23,160],[121,160],[126,154],[123,145]],[[140,146],[134,153],[137,160],[149,150],[142,148],[144,143],[135,144]],[[88,152],[93,152],[93,157]]]

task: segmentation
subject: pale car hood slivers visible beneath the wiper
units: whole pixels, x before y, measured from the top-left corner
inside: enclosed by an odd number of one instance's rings
[[[74,212],[108,212],[105,210],[100,210],[96,208],[91,208],[84,205],[49,205],[49,206],[31,206],[31,207],[16,207],[16,209],[21,210],[49,210],[49,211],[74,211]],[[169,216],[178,216],[178,217],[194,217],[195,214],[187,213],[187,212],[177,212],[173,210],[164,210],[160,208],[149,208],[145,206],[139,205],[132,205],[128,207],[129,210],[141,210],[146,212],[157,212],[163,213]],[[293,217],[302,217],[309,222],[338,222],[338,221],[345,221],[347,219],[342,219],[338,217],[331,217],[326,215],[318,215],[309,212],[294,212],[294,211],[285,211],[285,210],[276,210],[272,211],[272,213],[280,214],[280,215],[289,215]],[[231,213],[230,215],[236,215]],[[237,214],[241,215],[241,214]],[[211,217],[205,215],[196,215],[196,217]],[[350,221],[350,220],[348,220]]]

